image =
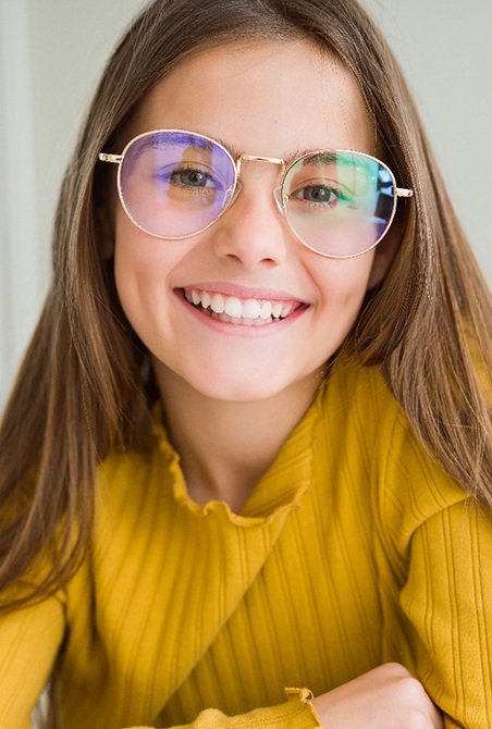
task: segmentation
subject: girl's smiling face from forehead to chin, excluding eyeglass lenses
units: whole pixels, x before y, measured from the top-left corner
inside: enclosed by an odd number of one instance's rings
[[[307,41],[224,46],[181,63],[145,99],[128,138],[159,128],[221,140],[233,157],[292,159],[323,148],[378,153],[356,83]],[[312,252],[275,205],[280,174],[275,164],[244,162],[233,206],[182,240],[144,233],[118,205],[118,292],[161,385],[172,379],[230,401],[288,388],[312,393],[368,286],[378,283],[390,236],[357,258]],[[217,295],[239,320],[204,310],[200,304]],[[286,316],[254,318],[270,304]]]

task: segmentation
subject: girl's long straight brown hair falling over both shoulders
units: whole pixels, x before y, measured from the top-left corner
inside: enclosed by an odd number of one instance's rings
[[[355,0],[155,0],[109,60],[88,111],[58,206],[51,289],[1,425],[5,607],[73,573],[90,539],[98,464],[111,447],[138,447],[149,427],[145,348],[100,250],[110,181],[98,152],[121,151],[139,101],[184,58],[238,38],[294,37],[354,74],[398,184],[415,191],[396,258],[348,344],[381,367],[443,468],[492,506],[491,299],[381,35]],[[5,592],[21,580],[25,590]]]

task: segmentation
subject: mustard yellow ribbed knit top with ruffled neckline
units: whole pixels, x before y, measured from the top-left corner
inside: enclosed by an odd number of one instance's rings
[[[113,454],[67,588],[0,623],[0,728],[63,643],[65,729],[317,727],[315,695],[405,664],[446,727],[492,727],[492,521],[376,369],[342,359],[242,514],[186,492],[156,422]]]

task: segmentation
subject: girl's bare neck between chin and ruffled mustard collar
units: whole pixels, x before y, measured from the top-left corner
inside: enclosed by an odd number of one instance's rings
[[[167,428],[180,454],[188,494],[239,512],[312,401],[321,378],[253,403],[218,400],[157,368]]]

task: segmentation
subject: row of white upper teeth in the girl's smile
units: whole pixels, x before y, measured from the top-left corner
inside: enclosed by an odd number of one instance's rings
[[[292,301],[271,301],[268,299],[239,299],[237,296],[223,296],[192,288],[184,292],[186,300],[216,313],[226,313],[234,319],[284,319],[293,308]]]

